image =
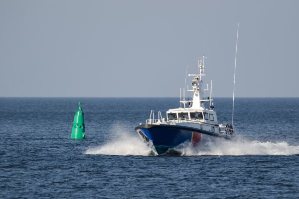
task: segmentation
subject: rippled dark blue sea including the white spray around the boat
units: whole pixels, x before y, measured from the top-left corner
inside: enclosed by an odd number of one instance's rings
[[[86,139],[71,140],[79,100]],[[0,98],[0,198],[299,198],[298,98],[237,98],[233,141],[150,155],[134,128],[178,100]],[[214,105],[230,123],[232,99]]]

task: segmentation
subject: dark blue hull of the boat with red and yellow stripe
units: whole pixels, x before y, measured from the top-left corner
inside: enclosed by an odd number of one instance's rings
[[[210,137],[230,139],[225,135],[177,125],[145,124],[137,126],[135,130],[144,139],[144,142],[159,155],[184,142],[192,142],[194,145],[197,145],[205,142]]]

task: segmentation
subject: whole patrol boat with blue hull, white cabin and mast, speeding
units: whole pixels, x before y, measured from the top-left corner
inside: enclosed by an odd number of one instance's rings
[[[154,111],[151,110],[146,123],[140,123],[135,128],[154,154],[175,152],[177,146],[186,142],[198,145],[219,138],[231,139],[234,136],[233,125],[225,121],[218,123],[212,99],[212,87],[210,97],[204,99],[204,94],[209,91],[208,85],[207,88],[203,88],[204,59],[203,56],[198,60],[198,74],[189,74],[189,77],[194,77],[191,83],[192,90],[187,89],[193,92],[192,100],[185,99],[185,91],[182,89],[180,107],[166,111],[166,119],[162,118],[160,111],[155,118]],[[208,108],[206,103],[209,105]]]

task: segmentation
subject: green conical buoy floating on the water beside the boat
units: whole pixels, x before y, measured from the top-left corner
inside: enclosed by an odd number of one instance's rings
[[[71,139],[85,139],[84,114],[81,104],[81,101],[79,101],[79,108],[76,110],[74,117]]]

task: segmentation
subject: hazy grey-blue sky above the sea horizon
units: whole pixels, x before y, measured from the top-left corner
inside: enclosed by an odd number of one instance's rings
[[[0,0],[0,97],[299,97],[298,0]],[[190,78],[187,83],[190,85]]]

